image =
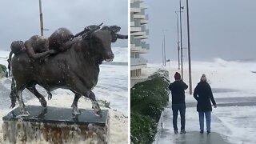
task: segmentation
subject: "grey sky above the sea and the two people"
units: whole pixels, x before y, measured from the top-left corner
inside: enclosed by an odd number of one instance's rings
[[[178,61],[177,16],[179,0],[146,0],[150,22],[149,62],[162,62],[162,30],[166,34],[166,58]],[[186,0],[182,0],[182,43],[187,47]],[[192,60],[256,58],[255,0],[193,0],[190,8],[190,47]],[[184,50],[187,55],[187,50]],[[187,61],[185,56],[184,61]]]

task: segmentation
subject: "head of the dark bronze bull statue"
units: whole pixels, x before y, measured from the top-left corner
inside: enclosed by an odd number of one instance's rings
[[[109,30],[100,30],[102,24],[82,34],[82,38],[90,39],[93,44],[94,52],[100,54],[103,60],[110,62],[114,59],[114,54],[111,50],[112,34]]]

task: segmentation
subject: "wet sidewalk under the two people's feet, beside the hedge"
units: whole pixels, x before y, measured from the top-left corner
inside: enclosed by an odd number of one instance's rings
[[[186,108],[186,134],[174,134],[172,124],[171,102],[162,113],[162,130],[158,131],[159,144],[182,143],[182,144],[227,144],[225,136],[218,134],[221,131],[214,131],[214,127],[222,127],[227,130],[222,122],[212,114],[212,133],[199,134],[198,113],[196,107]],[[180,127],[180,118],[178,115],[178,127]],[[219,129],[219,128],[218,128]]]

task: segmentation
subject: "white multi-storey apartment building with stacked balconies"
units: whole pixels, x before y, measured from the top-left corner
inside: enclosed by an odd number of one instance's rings
[[[146,67],[146,59],[141,54],[150,50],[150,45],[143,42],[149,38],[146,30],[148,14],[143,0],[130,0],[130,78],[131,81],[140,78],[142,68]]]

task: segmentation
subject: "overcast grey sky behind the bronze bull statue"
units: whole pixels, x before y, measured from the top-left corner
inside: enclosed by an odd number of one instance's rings
[[[44,35],[59,27],[66,27],[73,34],[85,26],[121,26],[119,34],[128,34],[127,0],[42,0]],[[15,40],[26,41],[40,35],[38,0],[0,1],[0,50],[10,50]],[[112,46],[127,46],[127,40],[118,40]]]

